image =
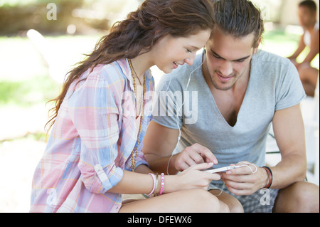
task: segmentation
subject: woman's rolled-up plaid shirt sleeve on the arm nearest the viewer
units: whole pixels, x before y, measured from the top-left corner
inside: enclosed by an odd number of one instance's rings
[[[82,181],[90,192],[105,194],[123,176],[115,164],[119,110],[110,85],[99,75],[90,75],[69,97],[68,108],[80,137]]]

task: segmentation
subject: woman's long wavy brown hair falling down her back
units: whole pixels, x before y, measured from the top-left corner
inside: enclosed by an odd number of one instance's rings
[[[70,85],[79,80],[86,70],[97,65],[109,64],[122,58],[135,58],[151,51],[151,48],[166,35],[186,37],[214,26],[213,6],[208,0],[146,0],[127,19],[112,26],[110,33],[103,36],[94,51],[66,75],[63,89],[50,112],[46,123],[47,132],[53,126],[60,106]],[[85,80],[85,78],[83,79]]]

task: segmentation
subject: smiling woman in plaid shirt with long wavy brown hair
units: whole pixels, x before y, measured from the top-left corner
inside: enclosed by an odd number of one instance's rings
[[[193,166],[153,173],[142,153],[154,80],[192,64],[213,28],[208,0],[146,0],[70,71],[46,152],[33,177],[31,212],[219,212],[206,190],[218,174]],[[151,198],[122,204],[122,194]],[[201,203],[199,203],[201,201]]]

